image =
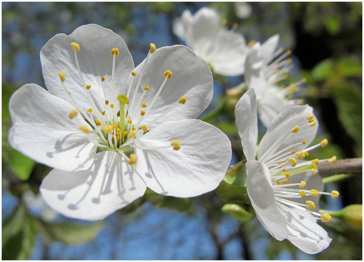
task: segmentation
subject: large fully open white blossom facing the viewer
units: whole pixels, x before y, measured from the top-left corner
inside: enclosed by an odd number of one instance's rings
[[[48,91],[27,84],[13,94],[9,142],[54,168],[40,192],[56,211],[98,220],[146,187],[192,197],[223,179],[231,144],[193,119],[209,105],[213,79],[189,48],[150,44],[134,69],[120,36],[88,24],[54,36],[40,58]]]

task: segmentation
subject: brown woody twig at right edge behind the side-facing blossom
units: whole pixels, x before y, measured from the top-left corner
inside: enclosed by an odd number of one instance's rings
[[[348,158],[344,160],[337,160],[333,163],[318,163],[317,165],[318,172],[321,176],[362,173],[362,167],[362,158]]]

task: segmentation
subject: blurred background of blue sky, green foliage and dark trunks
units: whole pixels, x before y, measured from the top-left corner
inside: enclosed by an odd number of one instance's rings
[[[150,43],[157,48],[185,44],[173,34],[173,21],[185,9],[195,13],[203,6],[226,18],[229,29],[238,23],[235,30],[247,43],[280,34],[280,46],[292,50],[294,68],[287,81],[307,79],[295,97],[314,107],[320,123],[316,140],[330,141],[310,153],[312,159],[362,156],[361,2],[3,2],[3,259],[362,259],[362,231],[341,220],[319,222],[333,241],[323,252],[308,255],[272,238],[256,218],[243,225],[221,212],[223,202],[214,191],[191,199],[146,194],[96,223],[65,218],[42,202],[38,188],[50,168],[12,149],[7,133],[11,94],[25,83],[45,87],[39,58],[44,44],[95,23],[119,34],[138,65]],[[231,164],[244,155],[234,125],[238,97],[226,90],[243,81],[243,76],[214,74],[214,98],[200,116],[229,136]],[[259,130],[261,138],[266,129],[260,124]],[[361,175],[328,183],[326,190],[338,190],[340,197],[322,197],[323,209],[362,203]]]

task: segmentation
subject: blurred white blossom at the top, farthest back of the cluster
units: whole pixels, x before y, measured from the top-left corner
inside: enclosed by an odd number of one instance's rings
[[[185,10],[174,22],[173,32],[216,73],[241,75],[248,52],[245,39],[233,30],[219,30],[219,24],[220,17],[214,9],[203,7],[194,15]]]

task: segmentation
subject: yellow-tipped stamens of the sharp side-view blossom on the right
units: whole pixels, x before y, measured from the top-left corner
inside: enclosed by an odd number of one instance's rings
[[[312,127],[316,124],[316,120],[313,114],[309,114],[306,117],[308,123],[304,125],[308,125]],[[321,219],[323,222],[331,221],[331,216],[329,214],[318,214],[313,212],[316,208],[315,203],[311,200],[307,200],[306,204],[298,203],[294,201],[294,198],[305,198],[306,195],[310,196],[318,196],[318,195],[331,195],[331,198],[338,198],[339,192],[333,190],[331,193],[317,191],[316,189],[303,189],[306,187],[306,181],[301,181],[300,183],[291,183],[289,182],[290,178],[295,175],[302,173],[307,170],[311,170],[312,174],[316,174],[317,164],[321,162],[334,162],[336,160],[336,156],[333,156],[330,159],[318,160],[314,159],[312,161],[302,161],[298,163],[297,160],[302,160],[306,156],[309,155],[309,151],[315,149],[319,146],[324,147],[328,144],[327,139],[324,139],[317,145],[313,145],[309,148],[306,148],[304,151],[295,151],[293,148],[299,144],[306,144],[306,140],[302,140],[296,144],[290,145],[278,152],[274,152],[271,156],[269,156],[269,152],[273,152],[276,150],[280,144],[288,137],[291,133],[297,133],[300,130],[300,126],[295,126],[292,128],[287,134],[284,134],[280,140],[277,140],[267,152],[264,153],[259,159],[259,161],[264,162],[270,171],[270,175],[272,177],[272,185],[274,189],[274,198],[279,207],[296,212],[302,216],[307,216],[305,212],[300,212],[300,210],[305,210],[305,207],[310,210],[311,217],[315,219]],[[287,159],[288,157],[288,159]],[[292,181],[292,180],[291,180]],[[297,186],[300,189],[289,188],[292,186]],[[291,200],[289,200],[291,199]]]

